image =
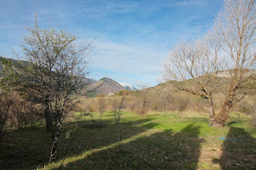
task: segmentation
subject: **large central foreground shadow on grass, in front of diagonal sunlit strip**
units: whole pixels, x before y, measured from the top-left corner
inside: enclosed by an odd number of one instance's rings
[[[81,155],[64,163],[61,169],[197,169],[203,142],[198,138],[199,130],[193,124],[176,134],[172,130],[149,129]]]

